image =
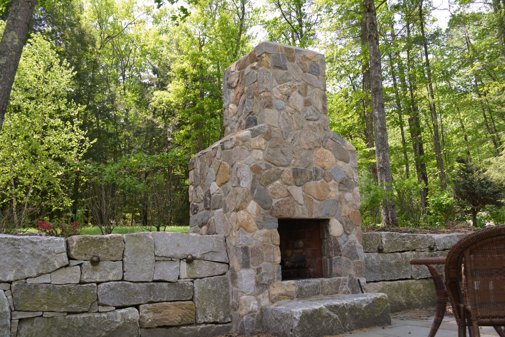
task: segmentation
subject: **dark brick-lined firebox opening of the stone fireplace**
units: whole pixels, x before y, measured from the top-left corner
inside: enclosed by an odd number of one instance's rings
[[[323,277],[319,219],[278,219],[283,280]]]

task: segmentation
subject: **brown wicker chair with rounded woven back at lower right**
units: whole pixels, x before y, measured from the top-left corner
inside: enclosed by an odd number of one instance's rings
[[[447,255],[445,286],[458,335],[480,336],[478,326],[493,326],[505,337],[505,225],[476,231]]]

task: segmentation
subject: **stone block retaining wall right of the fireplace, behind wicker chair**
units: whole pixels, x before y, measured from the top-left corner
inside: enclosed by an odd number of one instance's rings
[[[409,260],[446,256],[466,235],[363,233],[366,291],[387,294],[391,312],[435,306],[435,287],[430,272],[425,266],[413,266]],[[443,274],[444,266],[436,267]]]

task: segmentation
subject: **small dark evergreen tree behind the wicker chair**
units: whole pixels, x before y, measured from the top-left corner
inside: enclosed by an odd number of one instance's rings
[[[460,207],[472,216],[472,225],[477,226],[477,213],[487,205],[501,207],[505,191],[500,182],[486,176],[486,169],[458,159],[459,166],[452,179],[452,192]]]

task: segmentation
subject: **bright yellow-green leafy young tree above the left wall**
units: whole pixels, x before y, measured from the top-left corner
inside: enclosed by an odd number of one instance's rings
[[[0,134],[0,211],[23,226],[33,205],[71,204],[67,186],[90,146],[80,129],[83,107],[68,100],[72,71],[54,46],[35,35],[23,49]]]

